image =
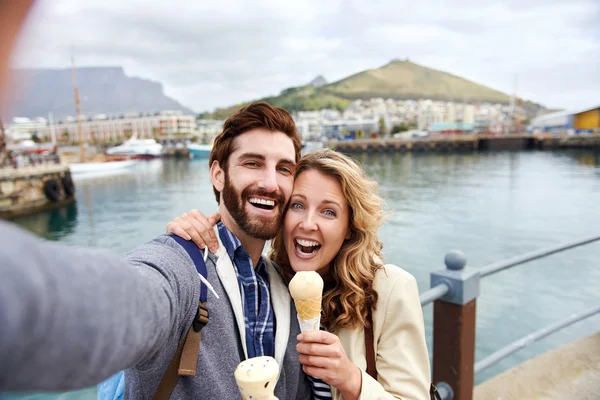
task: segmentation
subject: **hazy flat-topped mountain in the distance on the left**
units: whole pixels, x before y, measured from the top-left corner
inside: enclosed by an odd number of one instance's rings
[[[14,70],[15,95],[10,116],[55,118],[74,116],[75,100],[71,69]],[[81,113],[121,114],[179,110],[193,114],[176,100],[165,95],[162,84],[127,76],[120,67],[77,69]],[[6,116],[5,116],[6,117]]]

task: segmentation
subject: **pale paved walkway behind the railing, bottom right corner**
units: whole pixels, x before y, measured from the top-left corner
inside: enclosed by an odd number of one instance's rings
[[[477,385],[473,398],[600,399],[600,333],[540,354]]]

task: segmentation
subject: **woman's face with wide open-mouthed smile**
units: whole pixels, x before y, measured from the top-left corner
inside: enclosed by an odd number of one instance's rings
[[[342,186],[316,170],[300,173],[283,224],[292,269],[329,272],[344,240],[350,238],[349,208]]]

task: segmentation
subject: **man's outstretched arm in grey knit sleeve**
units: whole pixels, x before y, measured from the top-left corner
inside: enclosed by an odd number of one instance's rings
[[[0,392],[96,384],[150,359],[193,317],[197,273],[157,240],[126,261],[0,222],[0,260]]]

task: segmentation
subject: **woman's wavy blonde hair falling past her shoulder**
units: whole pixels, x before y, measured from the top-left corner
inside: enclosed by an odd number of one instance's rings
[[[335,332],[343,327],[367,325],[366,315],[377,304],[373,288],[375,272],[381,267],[382,245],[377,230],[383,221],[383,199],[377,194],[377,182],[349,157],[325,149],[309,153],[296,166],[295,178],[316,170],[336,179],[349,206],[351,236],[332,261],[325,278],[321,324]],[[283,240],[283,230],[273,239],[269,258],[275,261],[289,282],[294,276]]]

